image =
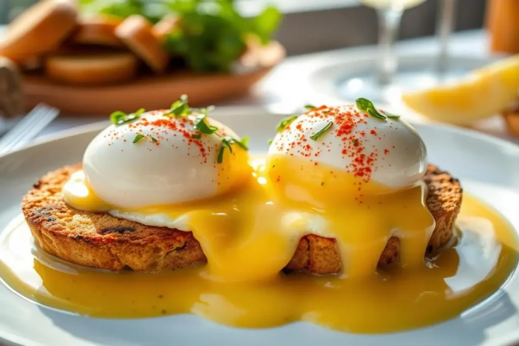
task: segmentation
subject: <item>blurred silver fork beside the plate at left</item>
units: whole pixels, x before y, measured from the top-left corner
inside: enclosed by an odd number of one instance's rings
[[[57,108],[40,103],[0,140],[0,155],[29,143],[59,114]]]

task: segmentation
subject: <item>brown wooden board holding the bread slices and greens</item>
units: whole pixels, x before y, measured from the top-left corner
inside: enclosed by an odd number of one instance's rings
[[[195,74],[172,72],[163,76],[141,76],[127,84],[86,87],[65,85],[43,74],[25,74],[22,88],[26,108],[44,102],[66,115],[103,115],[115,110],[134,112],[169,108],[182,94],[193,107],[207,106],[247,93],[284,58],[284,49],[270,46],[258,59],[261,67],[241,74]]]

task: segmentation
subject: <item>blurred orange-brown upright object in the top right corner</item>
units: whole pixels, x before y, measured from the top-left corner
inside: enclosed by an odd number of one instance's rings
[[[519,1],[490,0],[487,8],[490,49],[519,53]]]

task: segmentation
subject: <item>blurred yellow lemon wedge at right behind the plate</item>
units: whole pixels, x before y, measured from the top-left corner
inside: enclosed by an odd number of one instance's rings
[[[517,98],[519,54],[437,88],[406,93],[404,103],[427,118],[467,124],[501,112]]]

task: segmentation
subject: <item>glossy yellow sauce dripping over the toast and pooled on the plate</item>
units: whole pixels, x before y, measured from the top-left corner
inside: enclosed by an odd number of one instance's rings
[[[460,314],[497,290],[517,264],[514,231],[470,196],[463,197],[458,218],[459,243],[425,261],[434,228],[425,186],[360,196],[334,188],[330,176],[321,185],[324,171],[315,171],[315,179],[284,183],[282,177],[301,164],[292,163],[278,161],[274,171],[264,159],[254,160],[249,184],[232,193],[125,211],[187,218],[208,258],[205,266],[161,273],[83,268],[34,251],[29,230],[15,220],[0,238],[0,276],[32,300],[92,316],[191,312],[240,327],[307,321],[382,333]],[[347,180],[339,173],[336,178]],[[84,199],[78,196],[80,203],[100,203],[88,192]],[[306,234],[337,240],[342,275],[280,273]],[[391,236],[400,239],[400,266],[377,270]]]

